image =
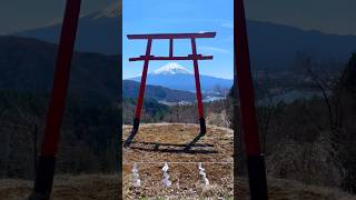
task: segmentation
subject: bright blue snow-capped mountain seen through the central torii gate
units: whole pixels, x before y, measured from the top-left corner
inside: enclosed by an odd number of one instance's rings
[[[130,80],[141,81],[141,77],[135,77]],[[229,79],[200,74],[200,86],[205,93],[226,92],[233,87],[233,82]],[[174,90],[196,91],[194,73],[176,62],[170,62],[148,73],[146,83]]]

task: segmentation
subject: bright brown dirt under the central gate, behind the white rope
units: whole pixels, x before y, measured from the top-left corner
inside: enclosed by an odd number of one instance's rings
[[[131,129],[131,126],[122,127],[123,140]],[[208,126],[206,136],[185,151],[186,144],[198,134],[197,124],[141,124],[130,148],[122,149],[122,162],[234,162],[233,130]]]

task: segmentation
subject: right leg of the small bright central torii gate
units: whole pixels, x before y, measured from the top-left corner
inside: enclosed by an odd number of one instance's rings
[[[191,50],[192,50],[192,63],[194,63],[194,74],[196,79],[196,90],[197,90],[197,101],[198,101],[198,114],[200,122],[200,133],[206,133],[206,123],[204,118],[204,108],[202,108],[202,98],[201,98],[201,89],[200,89],[200,78],[199,78],[199,68],[197,56],[197,44],[196,39],[191,38]]]

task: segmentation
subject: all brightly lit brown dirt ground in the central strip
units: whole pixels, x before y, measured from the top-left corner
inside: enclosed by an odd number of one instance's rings
[[[123,140],[132,127],[123,126]],[[130,148],[123,149],[123,198],[168,199],[233,199],[234,196],[234,132],[208,126],[207,133],[196,143],[199,126],[187,123],[141,124]],[[132,187],[132,166],[138,164],[142,182]],[[169,166],[172,186],[162,186],[164,162]],[[199,177],[198,163],[206,169],[209,186]]]

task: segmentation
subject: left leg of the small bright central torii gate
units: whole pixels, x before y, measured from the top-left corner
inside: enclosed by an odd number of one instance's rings
[[[152,46],[152,39],[148,39],[146,54],[145,54],[145,63],[144,63],[141,83],[140,83],[140,91],[139,91],[139,96],[138,96],[138,100],[137,100],[136,116],[135,116],[135,120],[134,120],[134,130],[136,130],[136,131],[138,130],[139,124],[140,124],[140,117],[141,117],[141,110],[142,110],[142,103],[144,103],[146,79],[147,79],[149,57],[151,53],[151,46]]]

